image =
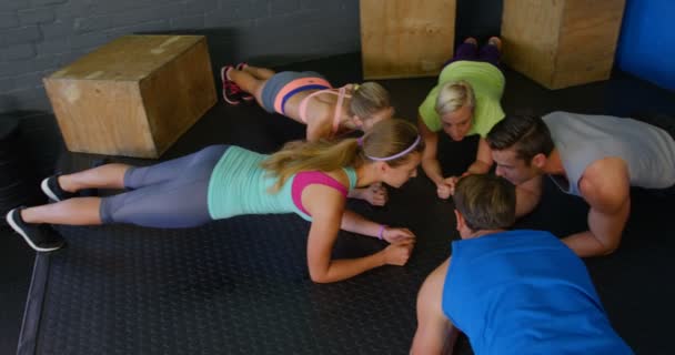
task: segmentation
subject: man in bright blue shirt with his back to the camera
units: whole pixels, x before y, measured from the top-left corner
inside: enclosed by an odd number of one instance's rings
[[[462,240],[420,290],[411,354],[452,353],[459,331],[475,354],[633,353],[578,256],[548,232],[506,231],[512,184],[470,175],[453,200]]]

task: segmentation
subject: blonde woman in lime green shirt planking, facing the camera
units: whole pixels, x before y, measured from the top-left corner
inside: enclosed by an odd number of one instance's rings
[[[492,126],[504,118],[500,100],[504,92],[504,74],[498,68],[502,42],[497,37],[478,50],[477,41],[467,38],[439,75],[419,109],[419,129],[426,149],[422,168],[436,184],[436,193],[447,199],[459,176],[443,176],[437,159],[439,132],[453,141],[480,134],[476,160],[465,174],[483,174],[492,166],[490,146],[485,141]]]

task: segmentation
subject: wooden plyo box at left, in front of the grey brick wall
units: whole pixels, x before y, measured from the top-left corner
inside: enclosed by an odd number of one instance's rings
[[[43,82],[73,152],[159,158],[216,102],[203,36],[125,36]]]

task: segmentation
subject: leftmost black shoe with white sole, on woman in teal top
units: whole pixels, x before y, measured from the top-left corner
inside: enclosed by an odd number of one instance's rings
[[[51,252],[66,244],[63,237],[48,224],[26,223],[21,219],[21,210],[17,207],[7,213],[7,223],[19,233],[30,247],[38,252]]]

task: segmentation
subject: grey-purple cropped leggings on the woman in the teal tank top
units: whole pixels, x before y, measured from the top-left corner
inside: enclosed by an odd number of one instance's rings
[[[124,187],[131,191],[103,197],[101,221],[160,229],[191,227],[212,221],[209,180],[228,146],[210,145],[190,155],[129,169]]]

